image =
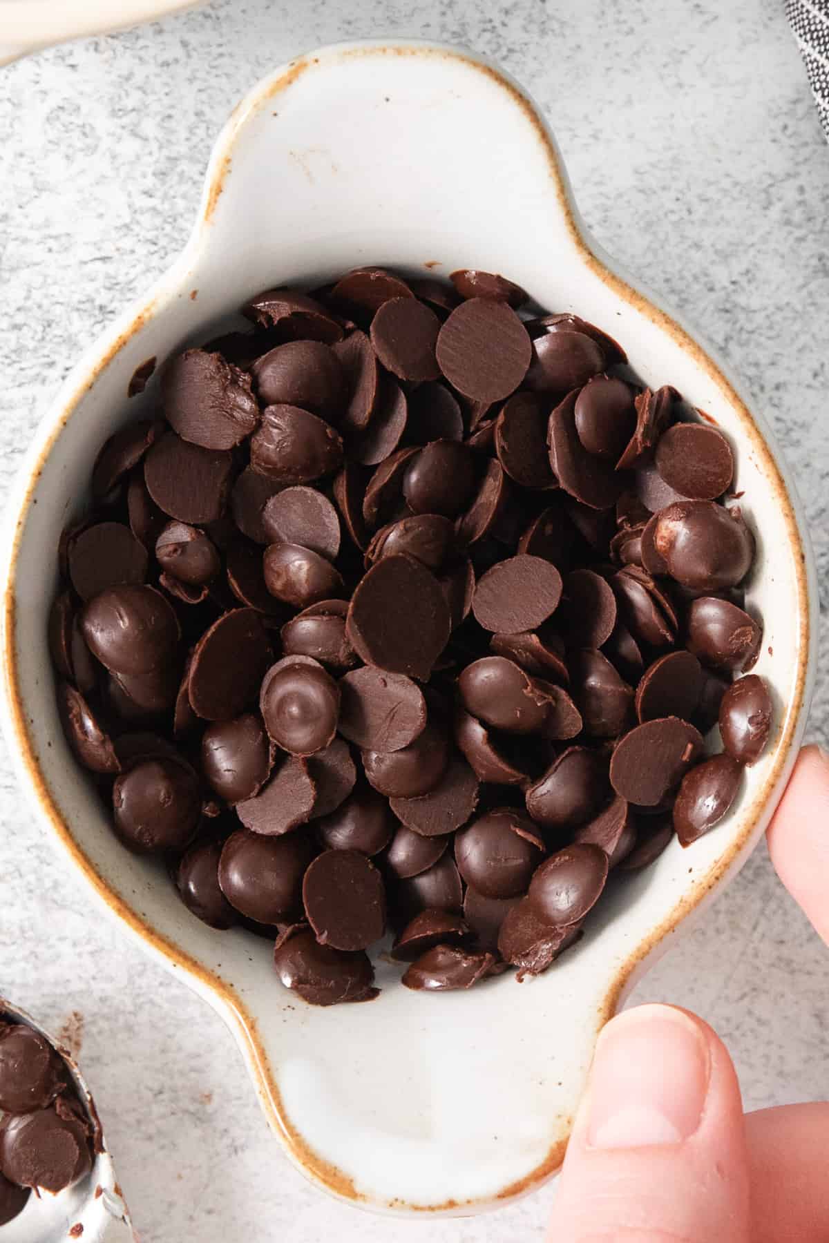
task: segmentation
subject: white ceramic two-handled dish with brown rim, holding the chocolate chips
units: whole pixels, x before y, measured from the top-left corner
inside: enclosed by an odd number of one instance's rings
[[[543,306],[608,328],[649,384],[675,384],[716,420],[759,532],[748,599],[766,623],[757,669],[777,720],[728,819],[618,890],[538,981],[424,996],[392,986],[396,972],[380,963],[389,987],[378,1001],[314,1009],[276,983],[265,942],[199,924],[159,869],[117,843],[61,736],[46,617],[58,532],[83,505],[92,457],[152,400],[126,401],[135,367],[210,337],[257,290],[313,286],[364,262],[503,271]],[[185,251],[75,368],[14,503],[6,725],[22,783],[91,894],[225,1017],[292,1160],[348,1199],[403,1212],[475,1212],[553,1173],[602,1024],[768,823],[803,731],[817,593],[768,431],[710,354],[587,239],[527,96],[475,56],[409,44],[323,48],[261,82],[219,138]]]

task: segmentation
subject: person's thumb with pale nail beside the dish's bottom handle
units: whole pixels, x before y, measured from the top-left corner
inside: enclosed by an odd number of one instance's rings
[[[748,1243],[740,1085],[707,1024],[640,1006],[599,1037],[549,1243]]]

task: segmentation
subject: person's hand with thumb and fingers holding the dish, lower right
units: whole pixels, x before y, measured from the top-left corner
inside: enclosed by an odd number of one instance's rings
[[[800,752],[768,830],[777,874],[829,945],[829,757]],[[696,1016],[640,1006],[603,1030],[549,1243],[825,1243],[829,1104],[742,1112]]]

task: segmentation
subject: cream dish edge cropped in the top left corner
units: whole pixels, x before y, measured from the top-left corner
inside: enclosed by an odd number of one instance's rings
[[[0,65],[51,44],[154,21],[198,0],[0,0]]]

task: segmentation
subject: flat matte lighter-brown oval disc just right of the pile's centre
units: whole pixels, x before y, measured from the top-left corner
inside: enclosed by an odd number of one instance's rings
[[[541,557],[521,553],[498,562],[475,588],[472,612],[485,630],[534,630],[558,608],[562,576]]]

